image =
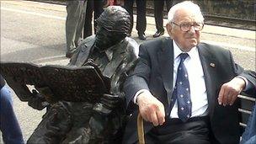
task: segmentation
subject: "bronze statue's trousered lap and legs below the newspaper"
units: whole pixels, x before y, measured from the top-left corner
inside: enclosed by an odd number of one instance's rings
[[[88,102],[52,104],[27,143],[120,143],[121,110],[101,115],[93,106]]]

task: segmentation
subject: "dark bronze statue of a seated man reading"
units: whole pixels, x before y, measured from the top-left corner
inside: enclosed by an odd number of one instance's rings
[[[125,124],[122,87],[136,63],[138,44],[126,36],[131,22],[124,8],[109,6],[96,23],[96,35],[83,40],[68,65],[83,67],[93,61],[110,79],[110,92],[95,104],[51,104],[28,143],[120,143]]]

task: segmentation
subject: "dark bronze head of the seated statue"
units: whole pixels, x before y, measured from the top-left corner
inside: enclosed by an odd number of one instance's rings
[[[129,13],[120,6],[109,6],[96,19],[96,46],[107,49],[125,39],[131,27]]]

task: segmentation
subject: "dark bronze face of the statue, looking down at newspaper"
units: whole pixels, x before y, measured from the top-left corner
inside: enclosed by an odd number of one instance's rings
[[[112,45],[119,43],[120,40],[123,40],[123,35],[122,33],[108,31],[104,27],[98,26],[95,40],[96,46],[101,50],[106,50]]]

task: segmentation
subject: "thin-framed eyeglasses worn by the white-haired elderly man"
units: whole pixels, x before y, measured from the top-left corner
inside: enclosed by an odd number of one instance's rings
[[[204,23],[183,23],[183,24],[176,24],[174,22],[171,22],[171,24],[174,24],[174,25],[177,25],[179,26],[180,30],[184,31],[184,32],[187,32],[189,31],[189,29],[191,29],[191,27],[193,26],[193,28],[196,30],[196,31],[200,31],[201,29],[204,28]]]

